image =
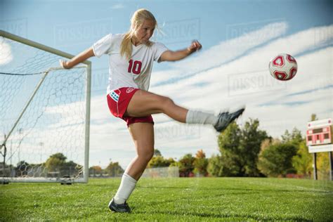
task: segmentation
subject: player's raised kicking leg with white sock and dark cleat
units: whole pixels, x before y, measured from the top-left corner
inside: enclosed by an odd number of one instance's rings
[[[148,91],[138,90],[131,98],[131,102],[126,110],[126,115],[131,117],[145,117],[156,113],[164,113],[187,124],[211,124],[216,131],[223,131],[230,122],[237,119],[244,112],[244,107],[235,112],[222,112],[214,115],[209,112],[198,110],[188,110],[176,105],[171,98],[159,96]]]

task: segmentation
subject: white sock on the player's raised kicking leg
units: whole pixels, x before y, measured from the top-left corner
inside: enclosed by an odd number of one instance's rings
[[[186,115],[187,124],[211,124],[216,125],[218,117],[209,112],[201,112],[197,110],[188,110]]]

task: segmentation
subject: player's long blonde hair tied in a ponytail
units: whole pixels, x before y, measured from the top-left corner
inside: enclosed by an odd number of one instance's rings
[[[154,15],[150,13],[150,11],[141,8],[138,9],[135,13],[133,13],[131,18],[131,27],[129,28],[129,32],[125,33],[124,39],[122,40],[122,44],[120,45],[120,55],[125,56],[126,59],[130,59],[132,55],[132,37],[134,35],[134,32],[141,28],[143,25],[143,22],[145,20],[150,20],[155,23],[155,27],[157,27],[157,21],[155,20]],[[146,46],[151,46],[152,42],[147,41],[145,44]]]

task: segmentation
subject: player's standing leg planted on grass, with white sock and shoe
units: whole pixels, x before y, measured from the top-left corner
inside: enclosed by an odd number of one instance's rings
[[[154,128],[151,123],[134,123],[129,125],[129,132],[136,146],[136,157],[127,166],[122,182],[115,197],[110,201],[109,208],[112,211],[130,212],[126,200],[133,192],[136,182],[145,171],[145,167],[154,155]]]

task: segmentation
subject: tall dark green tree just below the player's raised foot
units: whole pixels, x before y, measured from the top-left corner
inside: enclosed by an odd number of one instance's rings
[[[249,119],[243,129],[235,122],[230,124],[218,136],[223,176],[261,176],[257,162],[261,142],[266,138],[258,119]]]

